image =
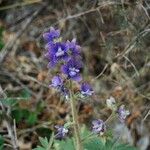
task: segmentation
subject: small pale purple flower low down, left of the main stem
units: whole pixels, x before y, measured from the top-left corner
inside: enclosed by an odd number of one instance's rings
[[[57,134],[55,135],[55,137],[57,139],[63,139],[66,137],[66,134],[69,132],[69,130],[67,128],[65,128],[64,126],[55,126],[55,128],[57,129]]]

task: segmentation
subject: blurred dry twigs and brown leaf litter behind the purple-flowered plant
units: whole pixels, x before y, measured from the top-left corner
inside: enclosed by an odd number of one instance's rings
[[[53,72],[44,58],[42,34],[53,26],[64,40],[82,47],[83,76],[94,97],[79,102],[79,121],[90,128],[106,120],[113,96],[131,114],[113,135],[141,150],[150,149],[150,0],[0,0],[0,89],[5,104],[0,143],[9,149],[5,113],[16,128],[21,150],[36,147],[55,124],[64,124],[70,108],[49,89]],[[3,96],[2,96],[3,95]],[[2,98],[3,97],[3,98]],[[5,98],[4,98],[5,97]]]

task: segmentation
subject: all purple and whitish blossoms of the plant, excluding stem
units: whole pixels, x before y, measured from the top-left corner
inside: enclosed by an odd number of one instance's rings
[[[43,34],[43,38],[47,42],[45,56],[49,60],[48,66],[54,69],[60,66],[60,74],[52,78],[50,87],[57,89],[66,99],[69,99],[69,89],[66,81],[72,80],[80,83],[82,81],[81,69],[83,67],[81,57],[81,47],[77,44],[76,39],[66,42],[60,37],[60,30],[53,27]],[[68,83],[68,82],[67,82]],[[70,88],[70,87],[69,87]],[[81,98],[92,96],[94,93],[92,87],[88,83],[82,83],[80,86]],[[113,97],[106,100],[107,107],[116,112],[116,101]],[[124,105],[121,105],[117,110],[119,120],[124,122],[129,115],[129,111],[125,110]],[[63,139],[67,135],[68,128],[64,126],[55,126],[57,129],[56,138]],[[103,120],[98,119],[92,122],[92,131],[96,134],[103,135],[106,131],[106,124]]]

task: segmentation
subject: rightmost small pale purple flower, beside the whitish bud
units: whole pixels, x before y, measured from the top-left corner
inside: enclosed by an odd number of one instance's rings
[[[118,109],[118,115],[119,115],[119,120],[120,122],[125,122],[126,117],[130,114],[128,110],[125,110],[125,106],[121,105]]]

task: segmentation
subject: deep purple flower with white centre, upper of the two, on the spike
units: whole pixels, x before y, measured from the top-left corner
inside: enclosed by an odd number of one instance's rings
[[[49,66],[54,67],[59,61],[67,61],[68,57],[68,46],[65,43],[55,43],[47,46],[48,52],[47,58],[50,60]]]

